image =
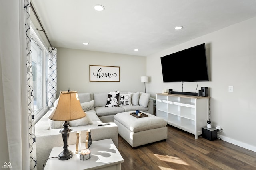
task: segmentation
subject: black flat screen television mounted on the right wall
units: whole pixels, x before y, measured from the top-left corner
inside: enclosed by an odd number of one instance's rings
[[[161,57],[164,82],[209,81],[205,43]]]

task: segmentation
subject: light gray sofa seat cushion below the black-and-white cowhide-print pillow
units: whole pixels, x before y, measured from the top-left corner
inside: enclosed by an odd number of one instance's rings
[[[95,107],[98,116],[107,116],[107,115],[115,115],[116,113],[124,112],[124,109],[121,107]]]

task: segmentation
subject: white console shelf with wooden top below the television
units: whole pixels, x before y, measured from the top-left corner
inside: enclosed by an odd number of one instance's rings
[[[169,125],[195,135],[202,134],[206,125],[209,98],[182,94],[156,94],[156,116],[162,117]]]

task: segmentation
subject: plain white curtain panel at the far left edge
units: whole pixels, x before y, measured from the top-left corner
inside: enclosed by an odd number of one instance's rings
[[[33,126],[28,118],[33,111],[28,108],[27,95],[26,56],[30,53],[26,53],[28,6],[28,0],[0,1],[0,113],[1,124],[6,125],[6,128],[1,129],[1,137],[4,138],[0,143],[3,144],[1,150],[8,150],[8,153],[1,153],[0,161],[2,166],[8,164],[12,169],[23,170],[36,169],[35,164],[32,168],[30,166],[31,137],[28,130],[29,126]],[[29,114],[28,109],[31,112]]]

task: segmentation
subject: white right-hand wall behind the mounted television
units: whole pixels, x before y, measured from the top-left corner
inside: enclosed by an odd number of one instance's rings
[[[224,129],[219,134],[223,140],[256,151],[255,28],[256,18],[252,18],[148,56],[147,75],[151,81],[147,90],[152,96],[164,88],[182,91],[181,82],[163,83],[160,57],[206,43],[211,80],[199,82],[198,89],[210,88],[212,125]],[[184,82],[183,91],[195,92],[196,85],[197,82]],[[234,92],[228,92],[228,86],[233,86]]]

